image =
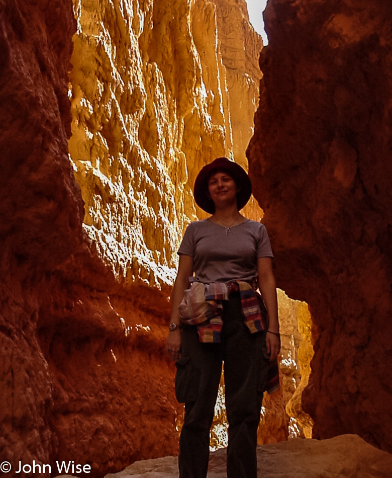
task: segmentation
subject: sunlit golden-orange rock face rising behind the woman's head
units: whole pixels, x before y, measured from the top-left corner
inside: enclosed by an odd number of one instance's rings
[[[84,230],[120,281],[172,283],[200,214],[195,175],[220,155],[245,163],[261,38],[243,1],[75,0],[75,12],[69,151]]]

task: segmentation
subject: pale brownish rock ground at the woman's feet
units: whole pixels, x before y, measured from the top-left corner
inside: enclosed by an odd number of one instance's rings
[[[357,435],[328,440],[295,438],[259,446],[258,476],[263,478],[390,478],[392,454]],[[105,478],[177,478],[177,457],[165,456],[133,463]],[[226,477],[226,450],[210,456],[208,478]],[[61,475],[58,478],[71,478]]]

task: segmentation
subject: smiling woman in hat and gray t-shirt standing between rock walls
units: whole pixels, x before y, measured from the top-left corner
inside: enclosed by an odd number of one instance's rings
[[[217,158],[200,171],[193,193],[211,216],[189,224],[178,250],[166,341],[176,360],[177,400],[185,403],[179,476],[207,476],[224,362],[227,476],[256,478],[262,396],[278,385],[272,251],[265,227],[239,212],[251,195],[249,177],[239,165]]]

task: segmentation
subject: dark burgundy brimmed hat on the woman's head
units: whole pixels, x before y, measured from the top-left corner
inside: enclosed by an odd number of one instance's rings
[[[210,176],[217,171],[223,171],[234,179],[240,189],[237,193],[238,210],[242,209],[252,194],[252,185],[246,171],[227,157],[217,157],[216,160],[200,170],[193,186],[193,197],[196,204],[204,211],[214,214],[215,204],[208,196],[208,181]]]

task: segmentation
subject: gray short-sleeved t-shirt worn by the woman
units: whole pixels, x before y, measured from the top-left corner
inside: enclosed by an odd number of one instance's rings
[[[263,224],[247,221],[226,229],[208,219],[191,222],[178,254],[193,258],[194,278],[204,284],[257,279],[257,259],[273,257]]]

